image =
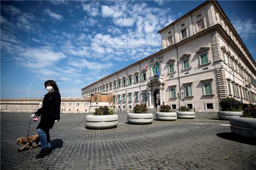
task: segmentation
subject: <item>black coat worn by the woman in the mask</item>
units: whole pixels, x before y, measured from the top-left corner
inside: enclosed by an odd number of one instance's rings
[[[60,93],[53,91],[45,94],[42,107],[34,114],[41,116],[36,129],[52,129],[54,121],[60,119]]]

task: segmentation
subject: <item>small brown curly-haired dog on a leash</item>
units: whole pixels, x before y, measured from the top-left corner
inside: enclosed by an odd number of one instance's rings
[[[38,146],[39,141],[40,140],[39,140],[38,135],[29,136],[28,138],[20,137],[17,139],[17,144],[24,144],[24,146],[22,146],[20,149],[18,149],[18,151],[19,152],[22,151],[28,145],[29,145],[29,149],[36,148]],[[35,146],[32,145],[34,142],[36,142]]]

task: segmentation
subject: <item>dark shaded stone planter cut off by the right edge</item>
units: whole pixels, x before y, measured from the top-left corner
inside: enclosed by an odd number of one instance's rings
[[[229,119],[229,124],[232,133],[246,138],[256,138],[256,118],[235,116]]]

